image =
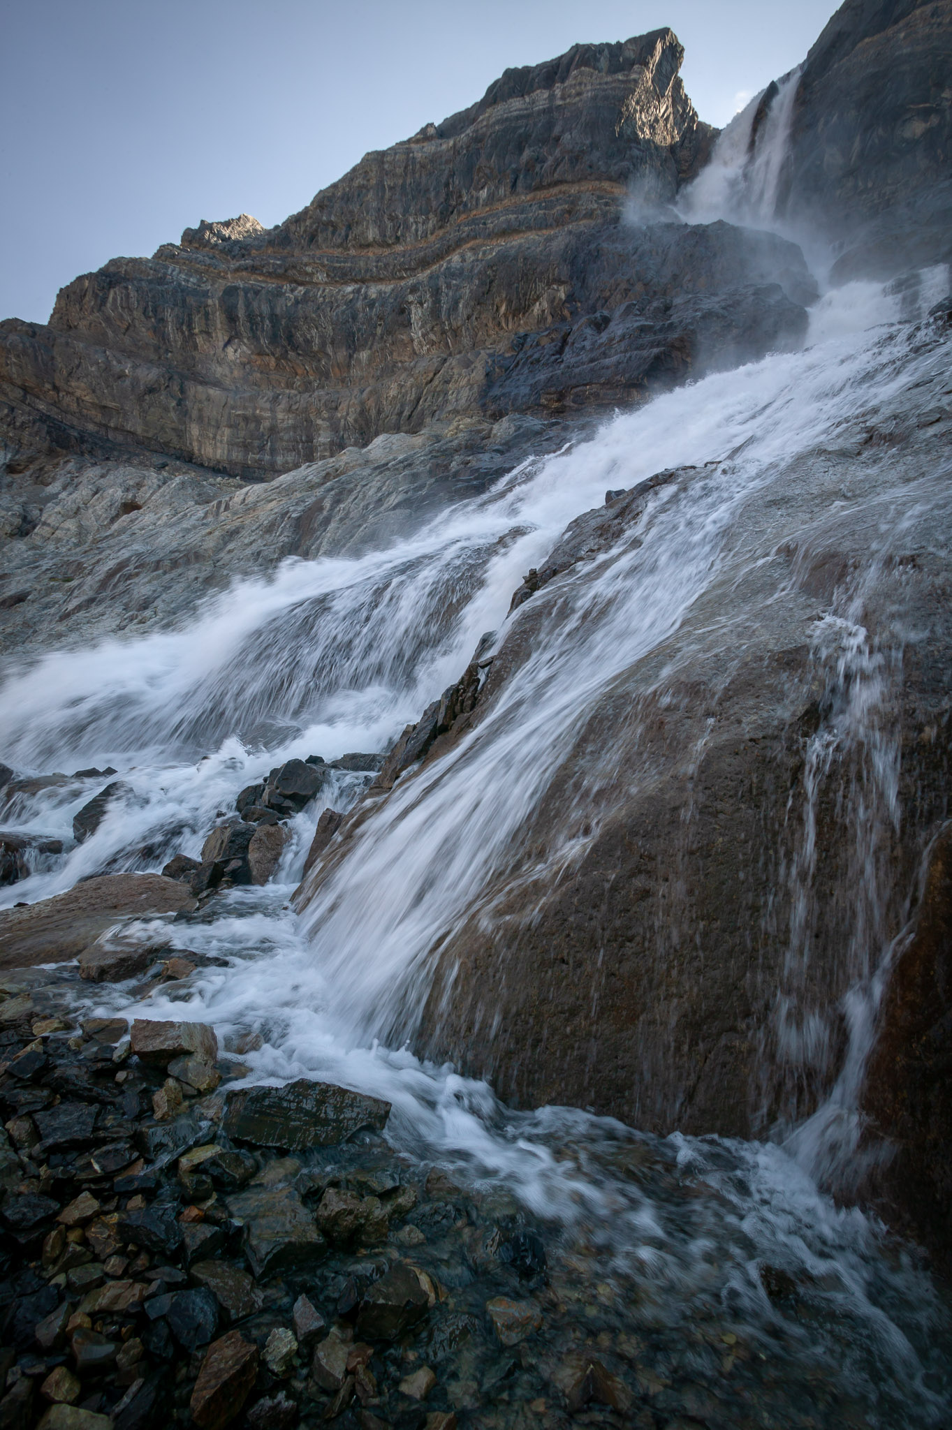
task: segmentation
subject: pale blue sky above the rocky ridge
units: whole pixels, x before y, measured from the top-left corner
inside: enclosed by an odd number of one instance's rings
[[[369,149],[505,69],[669,24],[725,124],[806,54],[832,0],[0,0],[0,317],[200,219],[304,207]]]

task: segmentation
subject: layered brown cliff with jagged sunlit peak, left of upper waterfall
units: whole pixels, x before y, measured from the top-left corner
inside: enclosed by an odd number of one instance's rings
[[[419,432],[636,400],[799,340],[798,250],[670,202],[712,132],[669,30],[507,72],[479,104],[367,154],[263,232],[203,223],[0,329],[17,460],[110,443],[262,478]]]

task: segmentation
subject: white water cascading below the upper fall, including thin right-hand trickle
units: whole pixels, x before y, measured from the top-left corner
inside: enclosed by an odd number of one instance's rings
[[[239,789],[283,759],[382,749],[460,675],[486,632],[497,646],[519,622],[523,608],[507,616],[513,591],[576,515],[606,489],[678,469],[612,549],[560,578],[545,639],[486,718],[373,809],[304,914],[294,915],[290,895],[320,807],[293,821],[276,881],[220,895],[202,921],[167,925],[177,947],[219,967],[179,992],[156,990],[139,1011],[260,1032],[263,1047],[246,1058],[252,1081],[309,1075],[386,1097],[390,1141],[545,1221],[565,1256],[587,1267],[593,1304],[580,1301],[579,1317],[596,1321],[598,1303],[598,1314],[630,1327],[659,1377],[703,1383],[729,1360],[752,1424],[948,1423],[942,1291],[909,1248],[823,1190],[856,1154],[843,1124],[856,1123],[888,964],[881,842],[901,818],[888,718],[896,646],[863,628],[862,582],[878,579],[891,541],[928,523],[943,496],[923,478],[869,498],[819,488],[786,500],[799,459],[846,440],[861,416],[885,420],[908,389],[939,380],[948,358],[948,337],[922,312],[902,320],[899,297],[851,285],[815,307],[803,350],[619,415],[387,551],[287,562],[270,581],[236,583],[184,629],[51,654],[10,674],[0,691],[7,759],[37,774],[111,765],[134,797],[63,859],[40,857],[27,881],[0,889],[0,905],[197,854]],[[417,1060],[412,1042],[439,950],[475,911],[492,919],[500,891],[525,877],[520,841],[586,712],[632,669],[643,669],[646,689],[663,689],[678,662],[666,642],[716,581],[740,581],[780,542],[835,522],[836,502],[866,499],[882,509],[879,548],[841,605],[818,609],[813,631],[818,678],[839,704],[812,736],[808,789],[862,746],[856,914],[843,950],[855,992],[833,1095],[806,1123],[789,1101],[769,1141],[659,1138],[572,1108],[516,1113],[485,1083]],[[782,583],[772,601],[783,603]],[[729,651],[742,633],[709,622],[690,639]],[[366,785],[347,772],[334,781],[320,798],[339,809]],[[577,857],[599,781],[593,771],[546,859]],[[46,789],[6,824],[69,838],[93,792],[83,781]],[[829,1055],[829,1025],[805,1005],[800,977],[815,918],[812,818],[809,802],[790,812],[795,919],[765,1030],[772,1067],[826,1065]],[[129,997],[97,988],[89,1010],[129,1011]]]

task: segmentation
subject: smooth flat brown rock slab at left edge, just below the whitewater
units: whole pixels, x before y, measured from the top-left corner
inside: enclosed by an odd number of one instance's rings
[[[162,874],[103,874],[27,908],[0,911],[0,968],[64,964],[122,918],[196,908],[184,884]]]

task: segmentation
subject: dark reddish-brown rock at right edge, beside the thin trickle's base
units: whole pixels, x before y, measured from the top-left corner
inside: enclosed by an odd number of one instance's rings
[[[921,1240],[952,1256],[952,829],[936,839],[912,940],[899,954],[866,1071],[866,1111],[892,1143],[873,1177]]]

